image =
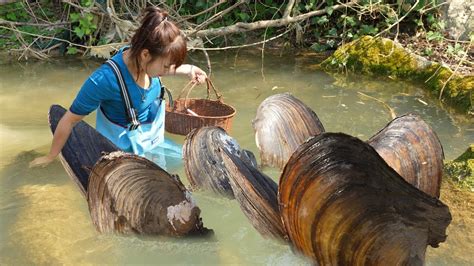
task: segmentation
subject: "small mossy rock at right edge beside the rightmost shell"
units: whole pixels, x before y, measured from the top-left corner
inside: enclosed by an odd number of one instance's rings
[[[474,192],[474,144],[453,161],[444,164],[445,176],[455,181],[460,187]]]

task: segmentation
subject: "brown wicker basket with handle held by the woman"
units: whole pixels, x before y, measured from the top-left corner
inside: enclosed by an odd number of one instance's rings
[[[183,91],[187,88],[186,86]],[[194,84],[189,88],[186,97],[173,101],[173,107],[166,105],[165,130],[169,133],[187,135],[191,130],[205,126],[219,126],[230,132],[232,118],[236,110],[225,104],[212,82],[207,80],[207,99],[188,98]],[[217,100],[210,99],[210,88],[214,90]]]

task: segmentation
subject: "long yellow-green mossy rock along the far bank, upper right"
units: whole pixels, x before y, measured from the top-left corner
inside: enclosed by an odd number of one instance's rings
[[[342,45],[321,63],[329,71],[353,71],[422,82],[449,105],[474,113],[474,75],[462,76],[386,38],[364,36]],[[445,85],[446,84],[446,85]]]

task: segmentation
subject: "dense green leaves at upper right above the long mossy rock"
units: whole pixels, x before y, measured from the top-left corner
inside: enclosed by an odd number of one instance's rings
[[[343,42],[352,41],[363,35],[377,35],[398,23],[398,20],[404,16],[406,17],[402,22],[403,25],[398,27],[399,30],[416,32],[427,29],[430,31],[427,38],[443,39],[440,32],[444,29],[444,22],[439,20],[438,9],[432,8],[436,5],[435,0],[420,0],[416,6],[416,0],[364,0],[358,2],[360,6],[357,11],[350,8],[334,11],[334,5],[340,4],[335,1],[301,2],[301,12],[313,11],[313,8],[317,6],[320,6],[319,9],[326,10],[325,15],[310,20],[313,25],[311,35],[315,39],[309,39],[309,41],[313,43],[311,47],[316,51],[321,51],[324,48],[332,49]],[[391,32],[396,30],[397,27],[392,27]],[[335,45],[327,44],[328,36],[331,41],[336,42]]]

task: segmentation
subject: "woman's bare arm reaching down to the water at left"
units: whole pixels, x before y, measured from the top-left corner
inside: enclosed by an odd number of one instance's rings
[[[58,126],[56,127],[56,131],[53,135],[53,143],[51,144],[49,154],[46,156],[38,157],[31,161],[30,167],[46,166],[50,162],[52,162],[61,152],[64,147],[64,144],[66,144],[66,141],[68,140],[69,135],[71,135],[71,131],[74,125],[81,121],[83,118],[83,115],[76,115],[68,110],[66,114],[64,114],[64,116],[59,120]]]

